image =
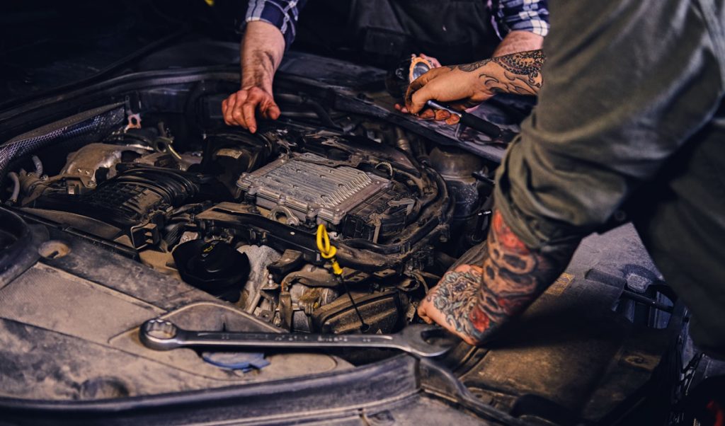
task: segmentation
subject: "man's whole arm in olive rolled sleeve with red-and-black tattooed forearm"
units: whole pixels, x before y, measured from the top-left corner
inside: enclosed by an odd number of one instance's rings
[[[547,84],[497,170],[485,249],[464,254],[419,308],[468,343],[531,304],[581,238],[710,120],[725,91],[714,43],[687,1],[676,14],[659,1],[557,5],[544,41]]]

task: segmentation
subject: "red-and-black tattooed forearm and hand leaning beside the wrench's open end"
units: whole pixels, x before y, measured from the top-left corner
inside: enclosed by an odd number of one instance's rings
[[[480,343],[556,280],[576,245],[567,243],[546,254],[531,250],[494,212],[480,266],[448,272],[427,301],[452,330]]]

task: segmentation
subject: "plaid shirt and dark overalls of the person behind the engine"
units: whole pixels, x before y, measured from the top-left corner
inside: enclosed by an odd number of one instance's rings
[[[312,36],[298,31],[302,7],[315,9],[300,20]],[[444,64],[484,59],[512,30],[546,35],[548,19],[547,0],[250,0],[246,21],[275,25],[288,48],[299,32],[320,53],[386,67],[421,52]]]

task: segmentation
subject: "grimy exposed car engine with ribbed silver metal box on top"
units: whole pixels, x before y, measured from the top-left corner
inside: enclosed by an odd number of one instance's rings
[[[157,122],[81,146],[57,174],[33,164],[16,174],[23,211],[113,241],[286,330],[399,330],[447,266],[435,251],[455,209],[443,178],[364,137],[287,123],[179,143]],[[319,225],[345,288],[320,256]]]

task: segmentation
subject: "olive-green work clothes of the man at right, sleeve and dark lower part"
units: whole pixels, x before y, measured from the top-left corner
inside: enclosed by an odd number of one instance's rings
[[[497,173],[495,200],[547,250],[634,221],[725,354],[725,0],[551,0],[539,102]]]

